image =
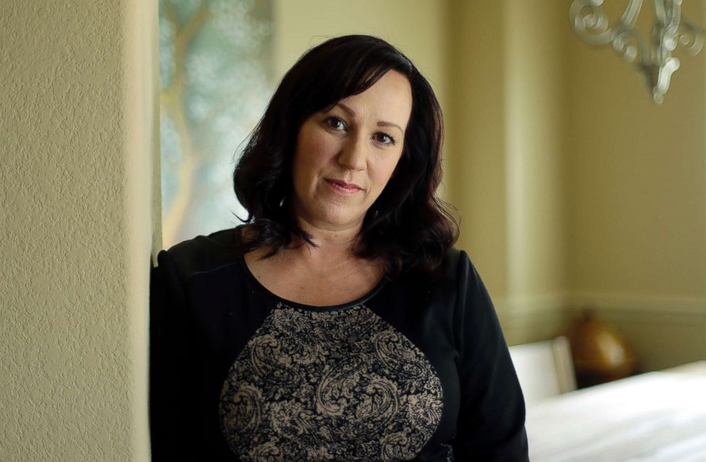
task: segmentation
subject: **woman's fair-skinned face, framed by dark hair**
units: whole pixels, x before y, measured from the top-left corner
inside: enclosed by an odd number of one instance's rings
[[[362,225],[399,162],[411,109],[409,80],[391,70],[305,120],[293,160],[294,211],[302,226]]]

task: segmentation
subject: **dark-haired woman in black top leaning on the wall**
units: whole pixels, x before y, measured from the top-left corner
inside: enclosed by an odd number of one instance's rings
[[[159,253],[155,461],[525,461],[525,404],[441,182],[441,110],[379,38],[285,75],[246,225]]]

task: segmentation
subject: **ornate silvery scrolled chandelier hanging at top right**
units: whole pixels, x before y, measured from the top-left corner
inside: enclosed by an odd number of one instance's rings
[[[693,56],[704,43],[704,29],[681,18],[682,0],[653,0],[655,25],[652,38],[645,41],[634,28],[642,0],[628,0],[623,16],[613,27],[601,9],[603,0],[574,0],[569,9],[571,28],[589,45],[611,44],[618,56],[636,61],[655,103],[662,103],[669,90],[670,78],[679,68],[679,59],[672,56],[678,44]]]

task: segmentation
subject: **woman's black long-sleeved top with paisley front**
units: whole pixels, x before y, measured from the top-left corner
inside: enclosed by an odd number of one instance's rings
[[[463,251],[330,307],[278,298],[239,229],[159,253],[154,461],[527,461],[525,402]]]

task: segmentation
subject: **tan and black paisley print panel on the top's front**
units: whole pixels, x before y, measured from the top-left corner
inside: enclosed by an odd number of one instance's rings
[[[280,304],[221,389],[221,430],[248,462],[404,461],[441,421],[423,353],[364,305]]]

